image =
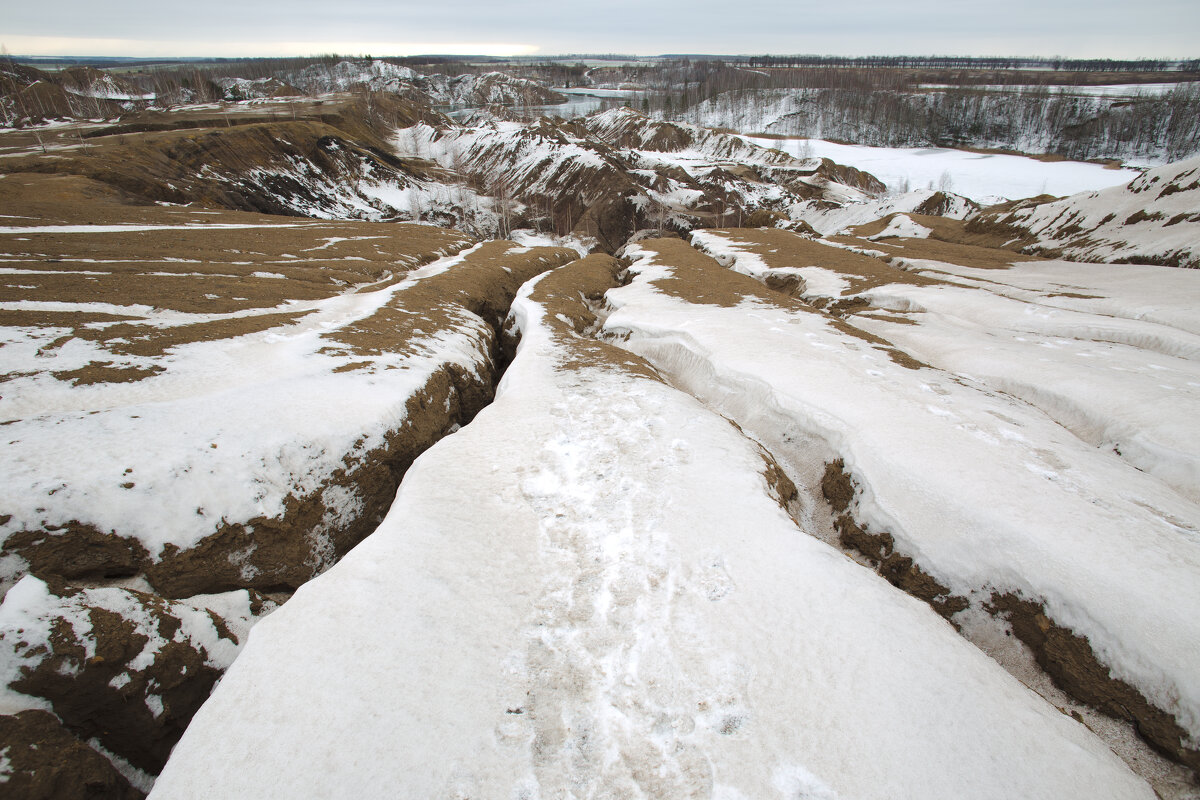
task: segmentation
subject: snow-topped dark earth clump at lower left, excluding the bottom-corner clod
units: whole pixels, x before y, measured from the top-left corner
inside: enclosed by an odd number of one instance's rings
[[[26,576],[5,607],[0,649],[20,675],[10,687],[49,700],[76,735],[151,774],[239,646],[214,612],[131,589],[71,589]]]

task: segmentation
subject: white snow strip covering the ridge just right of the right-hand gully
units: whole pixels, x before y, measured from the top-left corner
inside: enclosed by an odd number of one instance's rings
[[[900,366],[822,314],[683,302],[652,283],[672,267],[629,254],[636,279],[607,293],[605,323],[624,347],[716,409],[778,408],[844,456],[871,529],[954,594],[1044,599],[1114,675],[1200,733],[1195,503],[967,375]],[[786,428],[748,429],[787,449]]]

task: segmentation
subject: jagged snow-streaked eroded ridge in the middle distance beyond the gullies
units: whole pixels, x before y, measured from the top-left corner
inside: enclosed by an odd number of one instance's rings
[[[628,109],[571,122],[418,125],[400,131],[396,146],[510,198],[502,213],[511,227],[574,231],[606,251],[638,229],[685,233],[804,198],[866,199],[883,188],[858,170]]]

